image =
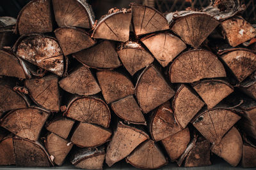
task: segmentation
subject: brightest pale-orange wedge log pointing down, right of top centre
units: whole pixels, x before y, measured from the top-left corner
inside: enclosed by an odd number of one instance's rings
[[[183,41],[169,32],[152,34],[141,41],[163,67],[187,47]]]

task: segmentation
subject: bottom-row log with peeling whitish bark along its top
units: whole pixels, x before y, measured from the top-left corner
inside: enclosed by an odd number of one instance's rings
[[[71,155],[71,163],[81,169],[102,169],[105,146],[99,148],[79,148]]]

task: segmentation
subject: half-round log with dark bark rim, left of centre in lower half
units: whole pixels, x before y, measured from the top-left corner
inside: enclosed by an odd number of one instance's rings
[[[75,97],[70,101],[65,112],[79,122],[101,125],[108,128],[110,122],[110,111],[108,105],[97,97]]]

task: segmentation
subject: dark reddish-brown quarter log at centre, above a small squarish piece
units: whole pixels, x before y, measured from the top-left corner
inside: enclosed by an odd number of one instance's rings
[[[108,104],[134,94],[134,85],[124,74],[116,71],[98,71],[97,78]]]

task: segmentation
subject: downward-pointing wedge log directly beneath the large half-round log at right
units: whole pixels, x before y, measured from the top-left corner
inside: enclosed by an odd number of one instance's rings
[[[234,88],[229,83],[221,80],[200,81],[193,85],[193,88],[202,97],[209,109],[216,106],[234,91]]]

